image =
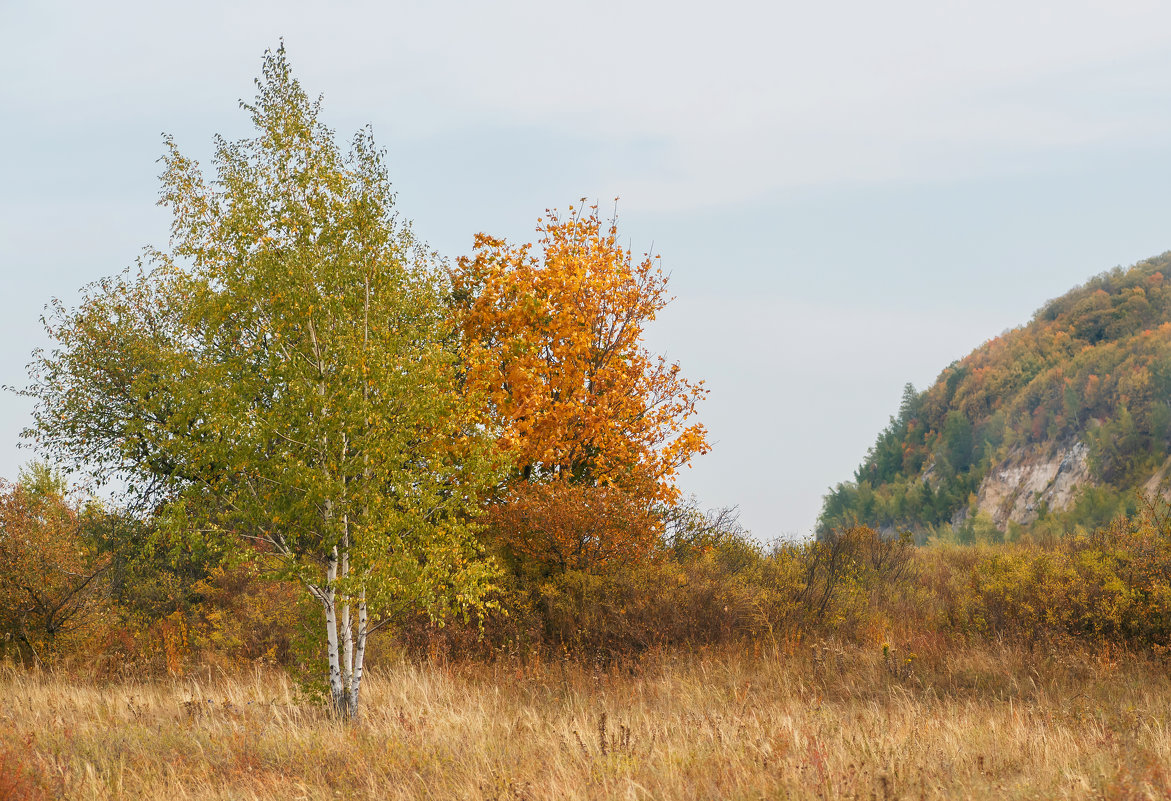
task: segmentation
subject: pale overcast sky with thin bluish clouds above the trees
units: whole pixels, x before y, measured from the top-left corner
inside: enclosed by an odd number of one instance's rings
[[[1171,248],[1165,2],[0,0],[0,384],[50,297],[165,244],[162,134],[247,135],[282,36],[450,258],[621,197],[672,273],[650,343],[711,390],[682,485],[762,540],[809,534],[903,384]],[[27,423],[0,393],[0,477]]]

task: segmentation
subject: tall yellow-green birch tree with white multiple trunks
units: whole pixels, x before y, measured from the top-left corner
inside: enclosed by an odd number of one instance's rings
[[[170,248],[48,316],[28,433],[123,479],[164,530],[299,580],[352,716],[372,631],[485,602],[470,515],[498,479],[441,273],[397,219],[370,131],[343,152],[283,47],[256,85],[255,134],[217,139],[211,180],[167,139]]]

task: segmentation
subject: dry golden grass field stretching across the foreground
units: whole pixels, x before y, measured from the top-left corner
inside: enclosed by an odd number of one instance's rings
[[[1162,799],[1165,660],[803,644],[375,672],[359,723],[281,673],[0,676],[0,799]]]

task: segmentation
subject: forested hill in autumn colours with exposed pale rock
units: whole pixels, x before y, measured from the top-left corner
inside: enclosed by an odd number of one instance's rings
[[[854,521],[960,540],[1093,527],[1171,473],[1171,252],[1103,273],[906,386],[897,416],[826,497]]]

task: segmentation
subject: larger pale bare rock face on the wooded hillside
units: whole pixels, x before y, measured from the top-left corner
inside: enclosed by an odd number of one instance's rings
[[[1001,530],[1009,522],[1027,526],[1042,506],[1054,512],[1068,508],[1077,491],[1093,482],[1089,447],[1082,441],[1052,452],[1018,449],[988,471],[977,494],[977,508]]]

